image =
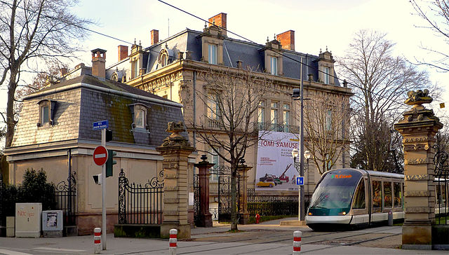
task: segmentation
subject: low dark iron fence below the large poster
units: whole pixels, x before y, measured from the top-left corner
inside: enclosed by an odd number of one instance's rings
[[[297,215],[297,210],[297,195],[262,195],[256,194],[254,188],[248,189],[248,212],[251,216]]]

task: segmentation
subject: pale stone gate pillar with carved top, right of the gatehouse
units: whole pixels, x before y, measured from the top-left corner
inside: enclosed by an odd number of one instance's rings
[[[194,151],[190,143],[179,133],[184,132],[182,122],[168,123],[166,132],[172,134],[156,148],[163,156],[163,221],[161,237],[168,238],[170,229],[177,229],[178,238],[190,238],[190,224],[187,222],[189,191],[187,179],[187,160]]]

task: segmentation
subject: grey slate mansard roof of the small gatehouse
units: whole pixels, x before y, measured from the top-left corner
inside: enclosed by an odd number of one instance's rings
[[[43,99],[56,102],[53,125],[37,125],[38,102]],[[136,103],[147,106],[148,130],[132,127],[131,109]],[[25,97],[11,146],[70,139],[100,140],[101,132],[92,127],[93,122],[99,120],[109,120],[112,142],[160,146],[170,135],[165,131],[167,123],[183,121],[181,107],[181,104],[124,83],[83,74]]]

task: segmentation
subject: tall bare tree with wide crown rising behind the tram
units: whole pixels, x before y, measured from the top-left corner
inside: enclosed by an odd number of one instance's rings
[[[353,149],[362,153],[359,156],[367,170],[384,170],[389,130],[401,116],[406,92],[430,84],[427,72],[402,57],[394,57],[393,48],[394,43],[386,39],[386,34],[361,30],[349,44],[346,55],[337,59],[340,75],[349,81],[355,93],[351,97]]]

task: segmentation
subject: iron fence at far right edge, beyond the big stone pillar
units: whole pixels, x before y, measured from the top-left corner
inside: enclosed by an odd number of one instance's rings
[[[449,219],[449,155],[446,151],[442,151],[438,145],[435,145],[434,149],[436,150],[434,156],[436,184],[436,224],[445,225],[448,224]]]

